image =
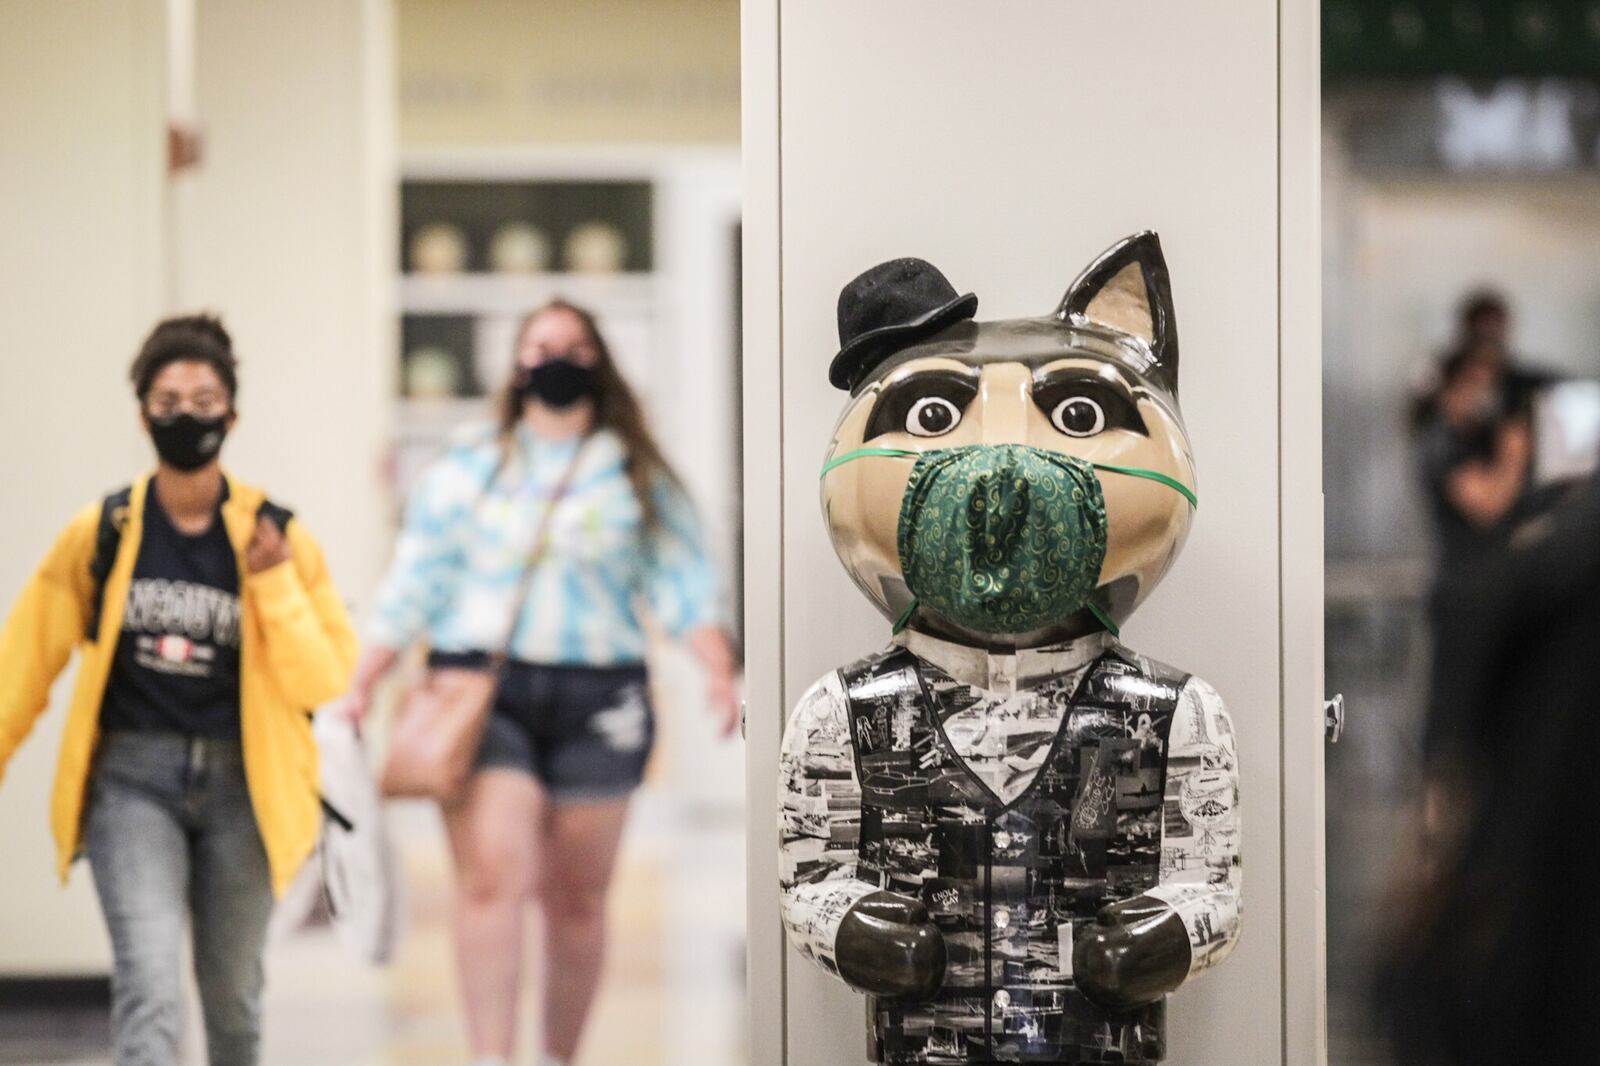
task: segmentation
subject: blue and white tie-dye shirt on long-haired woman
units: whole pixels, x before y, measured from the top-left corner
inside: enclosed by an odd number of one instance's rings
[[[501,445],[491,431],[478,431],[427,467],[406,506],[368,640],[390,648],[426,640],[435,651],[501,648],[528,552],[576,448],[576,440],[544,440],[520,427],[512,459],[496,477]],[[622,463],[622,442],[610,431],[582,445],[517,621],[512,658],[640,663],[640,608],[669,635],[718,621],[717,576],[683,490],[658,479],[659,528],[648,533]]]

